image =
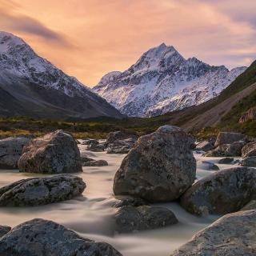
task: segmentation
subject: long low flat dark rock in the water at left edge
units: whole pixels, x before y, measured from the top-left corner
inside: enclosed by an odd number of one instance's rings
[[[69,174],[22,179],[0,188],[0,206],[46,205],[74,198],[85,188],[82,178]]]

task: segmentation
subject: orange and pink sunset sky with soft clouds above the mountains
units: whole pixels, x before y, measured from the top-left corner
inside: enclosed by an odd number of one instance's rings
[[[250,65],[256,1],[0,0],[0,30],[92,87],[162,42],[210,65]]]

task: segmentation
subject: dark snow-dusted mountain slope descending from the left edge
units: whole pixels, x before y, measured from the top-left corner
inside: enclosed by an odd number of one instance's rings
[[[34,53],[21,38],[0,32],[0,115],[34,118],[122,118],[105,99]]]

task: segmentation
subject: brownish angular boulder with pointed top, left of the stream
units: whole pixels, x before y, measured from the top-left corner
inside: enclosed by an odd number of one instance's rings
[[[77,143],[63,130],[34,138],[24,147],[18,168],[21,172],[40,174],[81,172]]]

